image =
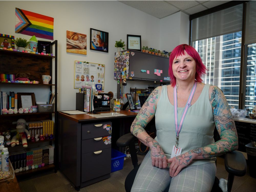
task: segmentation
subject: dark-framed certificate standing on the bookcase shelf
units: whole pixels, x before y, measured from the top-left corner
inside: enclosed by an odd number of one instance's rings
[[[36,105],[34,93],[17,93],[18,108],[30,108],[31,105]]]

